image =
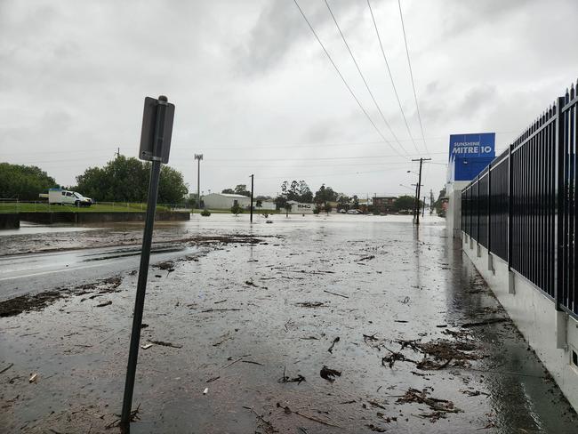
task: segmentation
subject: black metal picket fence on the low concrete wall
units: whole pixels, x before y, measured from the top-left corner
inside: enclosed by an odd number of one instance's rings
[[[462,191],[462,230],[574,317],[577,111],[573,84]]]

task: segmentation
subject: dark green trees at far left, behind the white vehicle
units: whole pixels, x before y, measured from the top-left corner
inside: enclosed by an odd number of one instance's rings
[[[19,200],[38,200],[40,193],[59,185],[36,165],[0,163],[0,195]]]

